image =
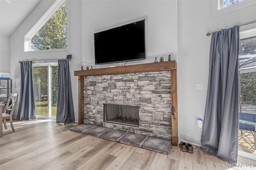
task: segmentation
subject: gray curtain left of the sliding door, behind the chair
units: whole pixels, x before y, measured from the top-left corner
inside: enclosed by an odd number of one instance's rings
[[[35,119],[32,61],[20,61],[20,105],[17,119]]]

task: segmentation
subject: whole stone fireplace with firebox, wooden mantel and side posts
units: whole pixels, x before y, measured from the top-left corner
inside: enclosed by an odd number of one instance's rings
[[[172,140],[177,145],[176,62],[75,71],[80,124]],[[110,115],[106,115],[109,111]]]

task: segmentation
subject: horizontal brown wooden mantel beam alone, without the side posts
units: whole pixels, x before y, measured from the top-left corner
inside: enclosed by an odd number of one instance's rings
[[[74,72],[75,76],[100,76],[109,74],[125,74],[134,72],[154,72],[164,70],[176,70],[176,61],[164,61],[158,63],[135,64],[127,66],[96,68],[90,70],[78,70]]]

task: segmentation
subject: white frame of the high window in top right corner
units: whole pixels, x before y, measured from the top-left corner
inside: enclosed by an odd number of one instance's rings
[[[252,0],[243,0],[243,1],[238,2],[236,4],[232,4],[230,6],[227,6],[225,8],[220,8],[220,2],[223,2],[223,0],[212,0],[212,17],[220,16],[220,15],[225,14],[227,12],[234,11],[234,10],[237,10],[239,8],[243,8],[245,6],[256,3],[256,1],[252,1]]]

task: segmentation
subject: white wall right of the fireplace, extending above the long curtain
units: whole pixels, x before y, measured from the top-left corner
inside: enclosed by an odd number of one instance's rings
[[[178,133],[200,144],[196,119],[204,118],[211,36],[206,33],[256,20],[256,4],[212,17],[209,0],[178,0]],[[195,90],[203,83],[203,90]]]

